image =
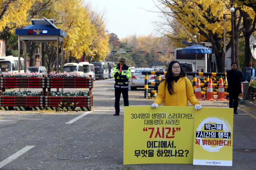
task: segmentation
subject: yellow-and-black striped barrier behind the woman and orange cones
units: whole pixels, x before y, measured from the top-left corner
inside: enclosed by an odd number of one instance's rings
[[[150,84],[153,85],[153,84],[160,84],[160,80],[161,80],[161,75],[165,75],[167,72],[166,71],[142,71],[142,74],[145,74],[145,85],[144,85],[144,98],[148,98],[148,93],[151,93],[151,92],[158,92],[158,90],[148,90],[148,74],[155,74],[158,76],[158,82],[151,82]],[[209,81],[209,76],[220,76],[220,78],[222,76],[225,77],[225,80],[226,80],[226,76],[227,76],[227,73],[217,73],[217,72],[186,72],[186,76],[187,75],[192,75],[193,76],[193,80],[191,81],[192,82],[192,86],[193,86],[193,89],[195,90],[196,89],[196,76],[208,76],[206,78],[206,81],[204,81],[204,83],[200,83],[201,86],[206,86],[206,89],[207,89],[207,86],[208,86],[208,81]],[[215,86],[215,87],[218,87],[218,84],[219,82],[218,81],[214,81],[215,83],[212,84],[212,86]],[[226,88],[228,86],[228,84],[225,84],[226,81],[224,81],[224,87]],[[202,94],[205,94],[205,92],[202,92]],[[216,92],[215,92],[216,94]],[[227,95],[227,93],[225,93]]]

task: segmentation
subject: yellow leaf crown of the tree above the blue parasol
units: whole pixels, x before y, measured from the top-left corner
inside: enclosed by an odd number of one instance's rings
[[[166,7],[170,8],[173,13],[173,17],[181,25],[179,30],[176,30],[179,34],[174,34],[176,39],[190,40],[193,33],[198,33],[199,29],[206,35],[218,34],[222,37],[224,31],[223,14],[230,14],[230,11],[226,6],[230,5],[229,1],[223,0],[173,0],[172,3],[168,0],[160,0]],[[226,15],[227,20],[231,18],[231,15]],[[231,30],[230,23],[226,23],[227,31]],[[190,35],[186,33],[188,30]],[[184,33],[182,35],[182,33]],[[170,34],[173,36],[173,34]],[[186,38],[184,38],[186,37]],[[201,41],[206,38],[201,35]]]

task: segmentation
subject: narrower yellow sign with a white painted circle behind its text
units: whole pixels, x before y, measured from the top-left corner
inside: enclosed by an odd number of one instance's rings
[[[232,166],[233,116],[232,108],[196,111],[193,164]]]

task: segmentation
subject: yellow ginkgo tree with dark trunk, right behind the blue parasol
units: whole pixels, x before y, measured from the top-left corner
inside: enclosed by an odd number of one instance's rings
[[[230,14],[228,6],[229,1],[223,0],[159,0],[165,8],[162,12],[168,17],[178,21],[182,27],[191,34],[200,33],[208,42],[212,43],[218,72],[224,70],[223,56],[223,31],[231,30],[231,24],[224,25],[223,15]],[[227,16],[230,18],[230,16]],[[178,28],[178,27],[177,27]],[[176,30],[178,32],[179,30]],[[184,32],[184,31],[183,31]]]

